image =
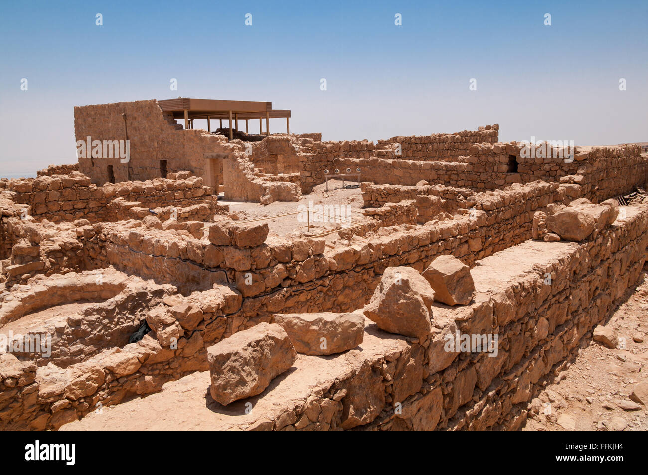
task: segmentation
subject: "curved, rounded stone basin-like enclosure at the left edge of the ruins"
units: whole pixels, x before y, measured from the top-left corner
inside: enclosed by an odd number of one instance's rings
[[[33,361],[38,366],[52,363],[65,368],[79,363],[104,349],[123,347],[133,334],[146,312],[161,302],[165,295],[176,293],[174,286],[159,286],[106,268],[92,272],[54,274],[34,279],[29,289],[12,292],[11,301],[0,308],[0,326],[3,334],[16,325],[7,325],[25,314],[54,305],[73,302],[93,302],[63,318],[51,318],[36,331],[27,335],[51,338],[47,357],[41,351],[15,348],[12,353],[21,361]],[[97,325],[101,321],[102,325]],[[25,336],[17,325],[17,334]],[[41,339],[43,341],[43,339]],[[11,344],[11,343],[8,343]],[[40,349],[39,349],[40,350]],[[6,348],[3,349],[6,351]]]

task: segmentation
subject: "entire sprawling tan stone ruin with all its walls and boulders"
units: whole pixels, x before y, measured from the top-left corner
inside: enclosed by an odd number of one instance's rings
[[[213,429],[515,430],[643,279],[639,146],[528,158],[495,124],[275,134],[249,153],[125,104],[153,124],[132,126],[130,181],[116,159],[116,183],[109,159],[0,180],[3,429],[88,427],[185,381]],[[77,136],[117,106],[77,108]],[[233,211],[297,207],[347,168],[355,226],[281,233]]]

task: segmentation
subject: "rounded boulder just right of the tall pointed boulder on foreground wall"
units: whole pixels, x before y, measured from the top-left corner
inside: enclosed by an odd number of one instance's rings
[[[472,300],[475,283],[470,268],[452,255],[434,259],[422,276],[434,289],[434,299],[447,305],[466,305]]]

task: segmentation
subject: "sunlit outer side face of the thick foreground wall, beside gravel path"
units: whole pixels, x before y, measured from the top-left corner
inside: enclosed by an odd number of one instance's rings
[[[470,306],[435,304],[428,343],[404,338],[407,344],[399,349],[361,360],[323,384],[323,391],[286,404],[264,428],[520,428],[529,401],[588,344],[594,327],[638,284],[647,224],[644,207],[593,240],[555,243],[564,248],[551,262],[512,276]],[[515,258],[515,251],[509,251]],[[621,281],[616,280],[619,272],[625,275]],[[553,277],[551,284],[546,273]],[[456,331],[497,334],[498,353],[446,351],[445,337]]]

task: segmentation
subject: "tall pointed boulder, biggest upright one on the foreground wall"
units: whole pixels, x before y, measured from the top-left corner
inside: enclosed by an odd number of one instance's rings
[[[411,267],[388,267],[364,308],[364,314],[390,333],[427,340],[434,291]]]

